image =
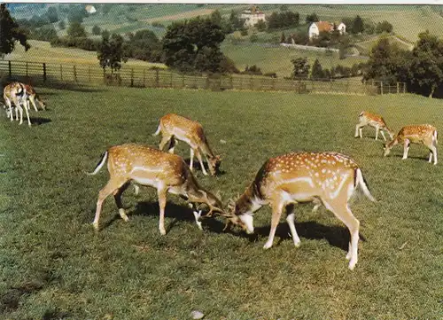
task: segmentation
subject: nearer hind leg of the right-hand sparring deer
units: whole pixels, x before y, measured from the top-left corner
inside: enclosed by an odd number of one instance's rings
[[[349,243],[349,251],[346,254],[346,259],[349,259],[349,269],[354,269],[355,264],[358,261],[358,242],[359,242],[359,229],[360,222],[355,219],[353,213],[347,206],[343,205],[338,201],[335,202],[324,202],[324,205],[330,210],[338,219],[345,223],[347,229],[351,234],[351,242]]]

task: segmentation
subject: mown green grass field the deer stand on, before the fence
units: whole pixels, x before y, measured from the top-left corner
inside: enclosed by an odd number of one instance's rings
[[[441,101],[411,95],[346,97],[195,90],[37,88],[49,110],[31,129],[0,121],[0,317],[4,319],[441,319],[442,166],[424,146],[382,157],[374,131],[354,138],[362,109],[392,129],[431,122],[443,128]],[[348,231],[330,212],[297,207],[295,248],[284,218],[275,246],[270,209],[256,232],[222,231],[214,218],[198,230],[182,199],[168,196],[167,235],[158,230],[156,192],[129,188],[129,222],[105,201],[95,232],[97,192],[108,175],[86,176],[108,146],[156,146],[159,117],[200,121],[221,174],[198,181],[223,202],[245,190],[269,157],[335,151],[362,168],[377,203],[357,195],[359,262],[347,269]],[[222,144],[225,140],[226,144]],[[177,153],[188,159],[179,143]],[[440,160],[441,161],[441,160]]]

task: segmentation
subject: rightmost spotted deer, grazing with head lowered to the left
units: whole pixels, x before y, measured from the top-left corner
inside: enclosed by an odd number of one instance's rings
[[[409,144],[424,144],[429,148],[429,162],[434,158],[434,165],[437,164],[437,128],[431,124],[422,124],[416,126],[406,126],[400,129],[399,133],[393,137],[392,141],[385,144],[385,153],[387,156],[395,144],[403,143],[403,160],[408,158]]]

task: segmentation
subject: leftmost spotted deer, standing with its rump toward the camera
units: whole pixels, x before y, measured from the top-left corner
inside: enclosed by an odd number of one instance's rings
[[[12,82],[4,87],[3,90],[3,98],[4,103],[9,108],[7,114],[8,117],[11,118],[11,121],[14,120],[13,114],[12,114],[12,103],[15,106],[15,117],[17,120],[19,120],[19,114],[20,113],[20,122],[19,124],[23,123],[23,108],[21,107],[21,104],[24,105],[25,111],[27,113],[27,124],[30,127],[31,121],[29,119],[29,102],[27,101],[27,90],[23,83],[20,82]]]

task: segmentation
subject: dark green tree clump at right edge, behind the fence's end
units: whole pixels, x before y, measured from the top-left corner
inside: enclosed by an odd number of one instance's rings
[[[443,40],[429,31],[418,35],[412,51],[401,50],[382,37],[370,52],[364,80],[406,82],[408,90],[424,96],[443,94]]]

